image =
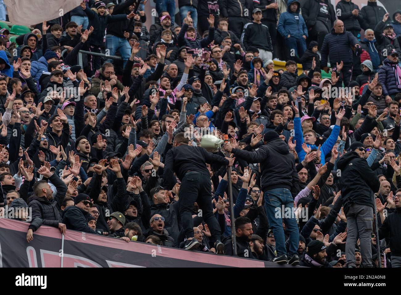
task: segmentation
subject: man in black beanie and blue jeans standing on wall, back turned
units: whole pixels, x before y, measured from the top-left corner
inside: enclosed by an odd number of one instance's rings
[[[294,199],[292,197],[297,193],[299,186],[295,159],[290,154],[288,145],[279,138],[277,132],[267,131],[263,141],[265,144],[260,146],[256,152],[233,149],[229,143],[224,144],[224,149],[248,163],[260,164],[260,182],[265,196],[265,210],[276,241],[277,256],[272,261],[279,264],[299,265],[297,254],[299,231],[294,216]],[[286,224],[290,233],[288,255],[282,222]]]

